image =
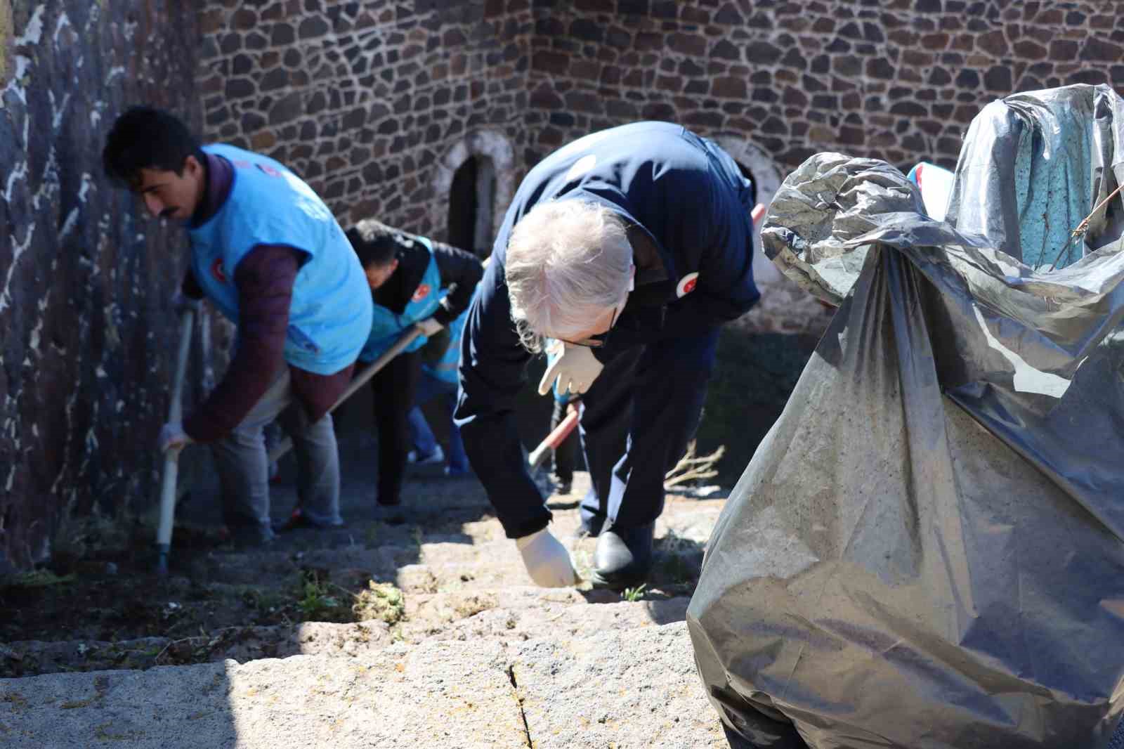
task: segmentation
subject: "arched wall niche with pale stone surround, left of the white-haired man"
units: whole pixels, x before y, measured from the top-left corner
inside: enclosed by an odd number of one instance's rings
[[[446,241],[481,258],[515,191],[515,151],[496,130],[470,130],[437,165],[434,195],[448,206]]]

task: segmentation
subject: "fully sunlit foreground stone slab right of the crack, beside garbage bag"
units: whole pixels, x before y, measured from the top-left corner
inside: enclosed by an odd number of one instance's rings
[[[727,749],[686,623],[511,646],[536,749]]]

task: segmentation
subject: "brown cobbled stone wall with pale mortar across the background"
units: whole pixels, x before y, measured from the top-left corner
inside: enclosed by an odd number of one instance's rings
[[[475,155],[474,244],[526,170],[591,130],[669,119],[715,137],[768,201],[808,155],[953,166],[994,98],[1124,87],[1124,16],[1100,2],[989,0],[211,0],[207,135],[285,161],[342,223],[450,240]],[[1080,62],[1077,62],[1080,61]],[[823,315],[759,260],[756,331]]]

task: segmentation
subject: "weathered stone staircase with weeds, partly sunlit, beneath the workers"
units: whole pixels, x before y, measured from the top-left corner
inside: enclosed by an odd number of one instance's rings
[[[206,590],[252,622],[301,575],[329,590],[371,579],[401,592],[392,615],[0,644],[26,674],[0,679],[0,746],[728,746],[683,623],[722,499],[668,497],[644,589],[542,589],[475,481],[422,477],[400,508],[374,507],[370,448],[342,444],[346,529],[173,557],[154,596],[174,612]],[[586,486],[550,503],[579,572],[596,544],[578,534]],[[279,517],[291,494],[274,490]],[[181,516],[215,511],[192,504]]]

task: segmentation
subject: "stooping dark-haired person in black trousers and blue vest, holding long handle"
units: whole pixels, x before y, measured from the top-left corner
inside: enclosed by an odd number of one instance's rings
[[[424,332],[371,378],[379,430],[377,502],[398,505],[410,450],[408,415],[422,374],[420,349],[428,339],[444,336],[443,328],[468,308],[483,269],[479,259],[463,250],[400,232],[373,218],[348,229],[347,238],[366,273],[374,300],[360,360],[378,359],[415,323],[420,323]]]

